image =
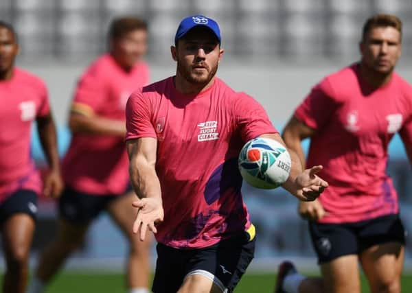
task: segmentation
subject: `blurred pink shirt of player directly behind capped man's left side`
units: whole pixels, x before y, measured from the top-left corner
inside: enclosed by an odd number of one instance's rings
[[[95,60],[78,82],[71,110],[125,121],[128,97],[148,84],[149,71],[139,62],[129,72],[105,54]],[[62,162],[65,183],[93,195],[121,195],[128,186],[128,156],[123,137],[75,133]]]

